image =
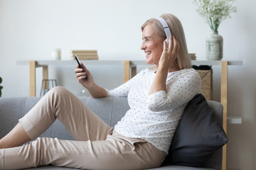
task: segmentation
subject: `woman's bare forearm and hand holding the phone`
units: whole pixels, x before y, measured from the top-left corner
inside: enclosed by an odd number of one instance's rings
[[[84,64],[80,64],[82,68],[79,68],[77,65],[74,70],[78,82],[89,91],[90,96],[94,98],[107,97],[107,91],[101,86],[97,86],[89,70],[85,67]],[[85,79],[85,77],[87,77],[87,80]]]

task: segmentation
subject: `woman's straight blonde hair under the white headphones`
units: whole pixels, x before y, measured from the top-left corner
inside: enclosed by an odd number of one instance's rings
[[[190,69],[191,68],[191,58],[188,55],[188,49],[186,45],[186,38],[184,35],[183,27],[181,25],[181,21],[178,20],[176,16],[173,14],[163,14],[160,16],[161,18],[164,18],[166,23],[168,24],[171,35],[174,35],[174,37],[178,40],[180,43],[180,50],[178,52],[177,62],[180,69]],[[147,20],[142,25],[142,31],[144,30],[145,26],[151,24],[151,26],[154,28],[154,31],[157,35],[159,35],[160,38],[163,38],[163,41],[166,39],[166,34],[164,33],[164,28],[161,26],[160,21],[158,21],[156,18],[151,18]]]

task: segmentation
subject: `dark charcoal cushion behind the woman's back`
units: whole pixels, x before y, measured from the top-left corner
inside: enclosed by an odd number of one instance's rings
[[[213,110],[202,94],[186,106],[174,134],[166,164],[203,166],[228,138]]]

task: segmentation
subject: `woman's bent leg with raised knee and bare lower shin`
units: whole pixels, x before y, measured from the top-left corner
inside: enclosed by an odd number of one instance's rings
[[[55,87],[21,118],[0,140],[0,148],[17,147],[45,132],[55,119],[65,125],[75,140],[105,140],[112,128],[63,87]]]

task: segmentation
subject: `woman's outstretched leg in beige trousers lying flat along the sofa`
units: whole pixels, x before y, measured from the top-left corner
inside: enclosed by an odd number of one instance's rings
[[[133,138],[131,142],[130,138],[116,133],[100,141],[43,137],[22,147],[0,149],[0,169],[48,164],[80,169],[149,169],[160,166],[165,155],[145,140],[136,142]]]

